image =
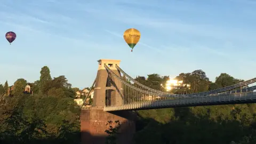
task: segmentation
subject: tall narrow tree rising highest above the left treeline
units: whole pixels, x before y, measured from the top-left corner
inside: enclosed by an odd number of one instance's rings
[[[49,90],[49,83],[51,82],[51,74],[50,69],[47,66],[41,68],[40,71],[40,93],[47,94],[47,90]]]

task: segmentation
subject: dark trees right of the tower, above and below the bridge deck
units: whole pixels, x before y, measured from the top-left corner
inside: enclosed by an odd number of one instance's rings
[[[163,91],[160,85],[168,77],[151,74],[147,80],[145,77],[136,79]],[[222,73],[215,82],[210,82],[202,70],[181,73],[175,79],[184,84],[170,91],[176,94],[205,92],[243,81]],[[140,110],[134,138],[137,144],[252,144],[256,143],[255,108],[255,104],[243,104]]]

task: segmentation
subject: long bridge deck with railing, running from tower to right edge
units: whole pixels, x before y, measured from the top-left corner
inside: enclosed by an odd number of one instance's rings
[[[120,106],[108,106],[108,107],[105,106],[104,111],[229,105],[229,104],[254,103],[254,102],[256,102],[256,92],[244,92],[244,93],[206,95],[203,97],[176,98],[173,100],[136,102],[136,103],[130,103],[130,104],[120,105]]]

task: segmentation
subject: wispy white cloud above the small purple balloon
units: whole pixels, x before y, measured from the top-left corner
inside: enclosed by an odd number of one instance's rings
[[[67,38],[70,34],[73,34],[69,39],[73,38],[76,39],[76,41],[79,38],[91,37],[91,35],[86,34],[84,30],[83,33],[80,33],[81,29],[76,25],[80,25],[79,23],[81,22],[76,19],[61,13],[47,12],[39,8],[37,10],[35,9],[37,9],[37,7],[22,12],[0,10],[0,22],[5,23],[7,26],[18,27],[19,29],[23,28],[29,31],[35,31],[36,33],[55,33],[55,36],[61,38]]]

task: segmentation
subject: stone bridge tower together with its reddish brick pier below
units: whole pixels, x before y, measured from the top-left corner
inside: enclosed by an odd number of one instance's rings
[[[93,106],[90,109],[82,109],[81,111],[81,139],[82,144],[105,144],[107,133],[105,130],[109,129],[108,121],[119,121],[121,123],[119,134],[117,135],[118,144],[130,144],[133,142],[133,134],[135,133],[135,118],[136,115],[131,111],[114,111],[111,113],[103,111],[106,105],[106,94],[111,91],[122,97],[122,84],[120,85],[109,85],[108,71],[105,68],[105,64],[112,70],[117,76],[121,77],[119,71],[115,65],[119,66],[121,60],[107,60],[100,59],[98,73],[94,86],[94,99]],[[118,89],[117,90],[114,90]],[[111,98],[111,97],[110,97]],[[120,99],[118,99],[120,100]],[[121,101],[114,101],[120,103]],[[113,126],[115,124],[113,123]]]

